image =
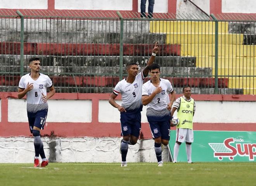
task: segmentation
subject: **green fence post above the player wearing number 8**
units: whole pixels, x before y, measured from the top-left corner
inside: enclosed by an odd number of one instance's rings
[[[20,76],[24,75],[24,15],[19,10],[16,13],[21,17],[21,54],[20,54]]]

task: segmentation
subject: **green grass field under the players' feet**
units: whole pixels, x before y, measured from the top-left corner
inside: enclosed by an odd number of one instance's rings
[[[0,164],[1,186],[103,185],[103,186],[234,186],[256,185],[256,164],[248,163],[50,163]]]

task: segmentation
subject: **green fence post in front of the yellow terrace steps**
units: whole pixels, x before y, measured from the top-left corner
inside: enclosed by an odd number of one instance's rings
[[[211,17],[215,21],[215,71],[214,71],[214,94],[218,94],[218,19],[211,14]]]

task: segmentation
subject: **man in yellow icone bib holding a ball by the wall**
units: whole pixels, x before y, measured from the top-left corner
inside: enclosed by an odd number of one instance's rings
[[[194,141],[193,133],[193,116],[195,114],[195,101],[191,98],[190,86],[183,87],[183,96],[176,99],[171,109],[171,115],[175,110],[178,112],[180,123],[176,127],[176,143],[173,150],[173,162],[177,162],[177,157],[181,143],[186,141],[187,162],[192,163],[191,160],[191,144]],[[171,124],[173,127],[173,124]]]

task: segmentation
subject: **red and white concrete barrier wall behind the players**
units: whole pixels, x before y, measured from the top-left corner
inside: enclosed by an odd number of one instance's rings
[[[0,162],[33,162],[33,136],[29,133],[26,100],[17,93],[0,93]],[[56,93],[48,100],[45,129],[41,131],[50,162],[120,162],[119,112],[108,103],[110,94]],[[178,95],[180,96],[180,95]],[[194,130],[256,131],[253,95],[193,95]],[[120,96],[117,102],[121,103]],[[175,130],[173,127],[172,130]],[[156,162],[154,140],[142,111],[138,143],[129,145],[128,162]],[[175,143],[175,135],[170,136]],[[170,143],[172,143],[170,142]],[[169,161],[168,148],[163,160]]]

